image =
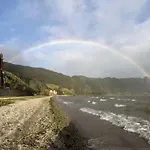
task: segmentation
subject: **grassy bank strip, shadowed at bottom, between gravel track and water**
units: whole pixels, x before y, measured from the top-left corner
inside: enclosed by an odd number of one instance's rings
[[[55,97],[50,98],[51,112],[56,123],[56,140],[50,143],[50,149],[61,150],[87,150],[87,139],[83,138],[75,124],[68,119],[67,114],[55,102]]]

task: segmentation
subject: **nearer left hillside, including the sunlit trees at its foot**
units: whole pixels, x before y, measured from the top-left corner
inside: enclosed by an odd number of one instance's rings
[[[7,62],[4,63],[4,70],[11,72],[23,80],[23,82],[38,94],[48,94],[50,89],[56,89],[60,94],[63,92],[67,92],[68,94],[74,93],[71,89],[72,78],[61,73]]]

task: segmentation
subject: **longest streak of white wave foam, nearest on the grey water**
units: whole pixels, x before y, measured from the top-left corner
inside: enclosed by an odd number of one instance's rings
[[[101,120],[106,120],[113,125],[123,127],[123,129],[128,132],[137,133],[140,137],[144,137],[150,143],[150,121],[148,120],[123,114],[94,110],[91,108],[81,108],[80,111],[98,116]]]

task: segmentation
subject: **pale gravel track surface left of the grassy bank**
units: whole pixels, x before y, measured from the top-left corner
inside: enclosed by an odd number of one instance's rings
[[[37,98],[0,107],[0,149],[45,149],[49,137],[55,138],[48,102]]]

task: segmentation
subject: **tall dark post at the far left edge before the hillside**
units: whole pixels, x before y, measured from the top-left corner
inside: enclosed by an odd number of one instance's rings
[[[0,53],[0,87],[4,88],[3,54]]]

